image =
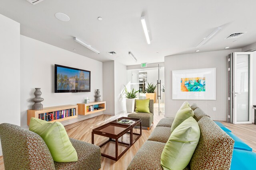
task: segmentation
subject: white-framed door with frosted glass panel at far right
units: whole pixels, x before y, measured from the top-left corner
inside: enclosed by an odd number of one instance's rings
[[[245,124],[252,123],[252,53],[238,52],[233,53],[233,123]]]

